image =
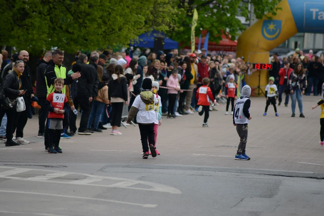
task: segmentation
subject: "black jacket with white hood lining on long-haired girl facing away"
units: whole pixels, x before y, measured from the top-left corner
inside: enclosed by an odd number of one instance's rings
[[[128,100],[127,79],[126,77],[122,76],[119,83],[117,80],[118,80],[117,75],[112,74],[109,81],[109,87],[108,87],[108,99],[111,100],[111,97],[119,97],[127,101]]]

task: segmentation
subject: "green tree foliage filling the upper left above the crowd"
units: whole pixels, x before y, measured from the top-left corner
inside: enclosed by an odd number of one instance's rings
[[[145,31],[177,29],[172,0],[0,0],[0,44],[39,54],[129,44]]]

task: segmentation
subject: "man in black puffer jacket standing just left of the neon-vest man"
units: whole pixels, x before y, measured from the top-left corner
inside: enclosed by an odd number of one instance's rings
[[[45,108],[45,101],[47,96],[47,87],[45,81],[45,70],[48,62],[52,59],[52,51],[47,51],[44,58],[38,60],[36,67],[36,95],[41,106],[40,114],[38,116],[38,137],[44,138],[45,135],[45,121],[48,116],[48,110]]]

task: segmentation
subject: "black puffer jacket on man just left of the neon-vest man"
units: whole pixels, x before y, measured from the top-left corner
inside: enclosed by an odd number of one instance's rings
[[[38,60],[36,67],[36,94],[37,97],[46,97],[47,96],[47,87],[45,81],[45,70],[48,65],[48,62],[43,59]]]

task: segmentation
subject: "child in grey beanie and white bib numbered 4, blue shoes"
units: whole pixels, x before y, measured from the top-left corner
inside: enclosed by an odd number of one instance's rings
[[[236,126],[236,131],[240,137],[235,160],[250,160],[250,157],[245,153],[246,142],[248,140],[248,124],[252,119],[250,115],[251,88],[249,85],[244,85],[242,88],[241,97],[237,99],[234,107],[235,114],[233,115],[233,125]]]

